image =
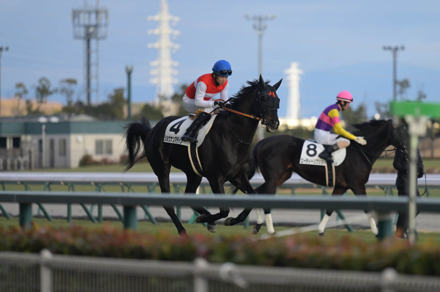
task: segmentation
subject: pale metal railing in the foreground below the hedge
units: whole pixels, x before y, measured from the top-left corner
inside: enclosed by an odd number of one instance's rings
[[[8,292],[437,292],[440,279],[382,272],[0,252]]]

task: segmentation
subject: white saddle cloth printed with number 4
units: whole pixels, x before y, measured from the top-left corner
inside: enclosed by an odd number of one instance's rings
[[[217,115],[213,114],[211,116],[211,119],[198,131],[198,134],[196,136],[198,140],[197,147],[202,145],[203,140],[211,129],[211,126],[213,125],[216,117]],[[193,120],[191,120],[189,116],[185,116],[169,123],[165,130],[164,142],[190,146],[191,142],[182,141],[181,137],[183,136],[187,128],[192,124],[192,122]]]

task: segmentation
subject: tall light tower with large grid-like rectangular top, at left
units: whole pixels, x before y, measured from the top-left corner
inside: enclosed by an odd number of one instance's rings
[[[96,103],[99,102],[99,39],[107,37],[108,10],[99,7],[88,7],[84,0],[84,7],[72,10],[73,38],[84,40],[84,95],[87,104],[92,101],[95,93]],[[95,46],[92,45],[95,39]],[[92,62],[92,58],[95,61]]]

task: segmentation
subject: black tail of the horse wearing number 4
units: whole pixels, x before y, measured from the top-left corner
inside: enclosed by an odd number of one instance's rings
[[[125,163],[125,170],[128,171],[141,158],[145,157],[145,153],[136,160],[140,150],[140,140],[145,143],[148,132],[151,130],[150,122],[146,118],[142,118],[140,123],[130,123],[124,127],[125,132],[125,152],[128,153],[128,160]]]

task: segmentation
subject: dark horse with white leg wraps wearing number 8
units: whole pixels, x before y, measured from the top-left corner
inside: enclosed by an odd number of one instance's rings
[[[390,145],[399,146],[405,139],[403,125],[394,128],[392,120],[369,121],[354,125],[357,129],[353,134],[363,136],[367,145],[360,146],[353,142],[347,147],[344,162],[335,167],[335,186],[332,195],[342,195],[351,189],[355,195],[366,195],[365,184],[370,176],[371,167],[381,153]],[[257,143],[253,150],[253,164],[248,171],[248,178],[252,178],[258,167],[264,177],[264,184],[255,189],[261,194],[275,194],[277,187],[282,185],[296,172],[302,178],[318,184],[326,185],[325,167],[300,164],[301,149],[304,140],[290,135],[268,137]],[[237,189],[234,190],[236,192]],[[334,210],[326,210],[326,216],[319,224],[319,233],[323,235],[328,217]],[[264,209],[268,232],[273,233],[271,226],[271,210]],[[376,223],[372,214],[368,214],[373,233],[377,234]],[[260,210],[257,210],[257,225],[253,233],[257,233],[263,223]]]

